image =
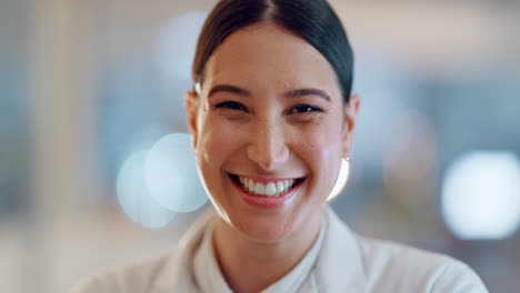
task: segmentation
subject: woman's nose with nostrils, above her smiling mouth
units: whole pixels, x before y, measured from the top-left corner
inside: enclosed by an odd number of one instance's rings
[[[251,141],[247,146],[249,159],[264,171],[273,171],[289,158],[283,131],[276,123],[263,123],[252,130]]]

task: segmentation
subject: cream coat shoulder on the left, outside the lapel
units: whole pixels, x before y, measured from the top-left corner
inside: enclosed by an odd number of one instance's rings
[[[149,292],[170,254],[140,263],[90,275],[76,285],[70,293],[137,293]]]

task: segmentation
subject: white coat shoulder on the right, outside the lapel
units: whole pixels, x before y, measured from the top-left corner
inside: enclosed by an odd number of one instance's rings
[[[367,283],[373,292],[384,292],[389,285],[394,286],[390,292],[410,287],[424,292],[488,292],[471,267],[451,256],[390,241],[357,239]]]

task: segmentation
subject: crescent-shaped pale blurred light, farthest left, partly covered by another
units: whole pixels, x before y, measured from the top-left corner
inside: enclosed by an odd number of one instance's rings
[[[122,164],[117,182],[118,200],[124,213],[146,228],[162,228],[170,223],[176,212],[158,203],[144,183],[147,151],[131,154]]]

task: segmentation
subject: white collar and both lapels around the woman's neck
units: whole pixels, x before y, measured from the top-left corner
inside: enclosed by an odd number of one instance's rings
[[[214,254],[210,259],[204,260],[204,257],[208,257],[204,256],[204,253],[214,253],[211,247],[211,236],[204,238],[209,230],[208,226],[212,226],[211,223],[213,221],[211,220],[214,219],[213,216],[214,211],[209,209],[209,211],[186,232],[178,247],[174,250],[174,253],[172,253],[164,266],[158,272],[153,292],[171,292],[171,290],[192,292],[193,289],[208,285],[204,285],[206,281],[198,282],[199,277],[197,276],[196,270],[199,269],[196,267],[200,260],[207,261],[211,259],[212,261],[210,261],[210,263],[204,262],[209,272],[212,272],[210,274],[213,275],[213,277],[208,281],[209,285],[217,284],[219,289],[223,289],[223,291],[218,292],[231,292],[218,269]],[[273,293],[274,291],[286,292],[280,291],[281,289],[286,289],[283,280],[286,280],[286,277],[288,277],[288,280],[296,277],[291,275],[298,270],[301,271],[296,272],[294,275],[302,275],[302,279],[306,279],[306,276],[309,275],[309,271],[312,271],[311,274],[316,276],[319,292],[367,292],[362,254],[356,235],[341,222],[330,208],[326,208],[324,216],[326,229],[323,229],[322,225],[320,235],[309,253],[291,273],[269,286],[263,291],[264,293]],[[209,241],[207,241],[208,244],[204,244],[204,239],[209,239]],[[203,249],[204,245],[209,245],[210,249]],[[202,255],[199,254],[200,256],[197,256],[200,249],[202,249]],[[316,255],[313,255],[314,253]],[[197,261],[198,259],[200,260]],[[302,269],[299,269],[300,265]],[[213,270],[217,270],[218,273]],[[278,287],[277,284],[280,282],[281,285]],[[288,281],[288,287],[290,287],[292,283],[293,282]],[[213,291],[214,287],[211,287],[211,290],[204,290],[203,292]]]

